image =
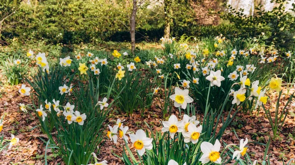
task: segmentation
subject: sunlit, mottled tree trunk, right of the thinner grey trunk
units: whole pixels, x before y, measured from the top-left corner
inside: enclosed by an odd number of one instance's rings
[[[165,27],[164,27],[164,38],[170,37],[170,26],[173,20],[170,18],[172,15],[171,0],[164,0],[164,14],[165,14]]]

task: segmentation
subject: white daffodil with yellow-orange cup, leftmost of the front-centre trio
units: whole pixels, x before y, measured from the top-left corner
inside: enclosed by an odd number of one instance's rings
[[[163,121],[163,132],[168,132],[170,134],[170,137],[173,139],[174,135],[177,132],[183,131],[183,121],[178,121],[177,117],[175,115],[171,115],[168,121]]]

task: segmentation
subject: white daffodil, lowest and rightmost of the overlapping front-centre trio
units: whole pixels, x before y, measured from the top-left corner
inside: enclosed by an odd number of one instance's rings
[[[202,125],[197,127],[194,124],[189,124],[187,130],[187,132],[182,133],[184,142],[188,143],[191,141],[193,144],[197,143],[202,133]]]

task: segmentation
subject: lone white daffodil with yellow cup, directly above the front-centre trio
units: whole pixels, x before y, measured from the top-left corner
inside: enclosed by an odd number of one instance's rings
[[[175,88],[175,94],[172,94],[170,99],[174,100],[175,107],[181,106],[182,109],[186,109],[187,103],[194,101],[194,99],[188,95],[188,89],[181,90],[178,87]]]

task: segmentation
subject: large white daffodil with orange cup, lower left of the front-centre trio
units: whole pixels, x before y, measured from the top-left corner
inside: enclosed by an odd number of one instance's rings
[[[143,156],[147,150],[152,149],[152,139],[148,138],[145,131],[139,129],[134,134],[129,134],[130,140],[133,143],[134,148],[138,151],[140,156]]]

